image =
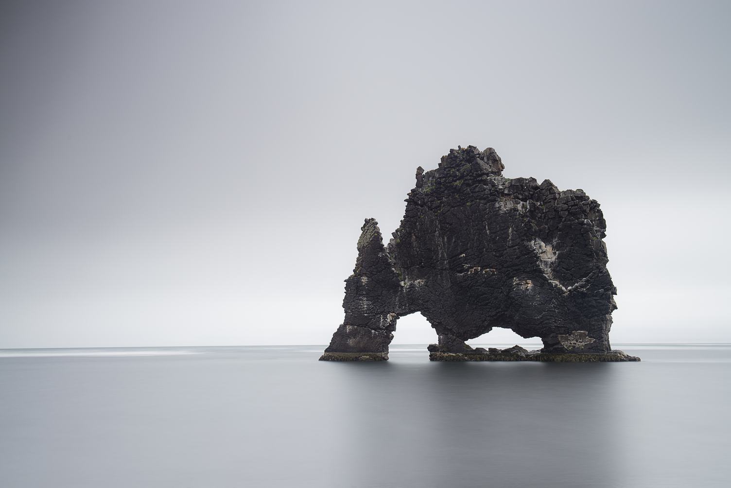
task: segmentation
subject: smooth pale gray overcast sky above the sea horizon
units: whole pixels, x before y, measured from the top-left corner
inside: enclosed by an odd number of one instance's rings
[[[5,1],[0,348],[324,344],[457,145],[583,188],[611,338],[731,342],[727,1]],[[515,340],[496,330],[474,342]],[[436,339],[421,316],[395,343]]]

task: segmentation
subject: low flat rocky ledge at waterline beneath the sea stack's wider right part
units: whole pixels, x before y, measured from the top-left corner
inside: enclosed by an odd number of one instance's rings
[[[431,352],[430,361],[540,361],[540,362],[629,362],[640,361],[624,351],[588,353],[545,353],[526,351],[520,346],[507,349],[477,348],[466,352]]]

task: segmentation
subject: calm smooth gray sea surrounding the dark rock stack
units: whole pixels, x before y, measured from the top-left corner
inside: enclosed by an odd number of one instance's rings
[[[643,362],[0,350],[0,487],[731,486],[731,346],[619,348]]]

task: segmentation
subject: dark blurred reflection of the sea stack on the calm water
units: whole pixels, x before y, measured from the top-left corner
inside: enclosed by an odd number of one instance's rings
[[[612,486],[622,468],[611,365],[352,366],[341,462],[382,466],[378,486]]]

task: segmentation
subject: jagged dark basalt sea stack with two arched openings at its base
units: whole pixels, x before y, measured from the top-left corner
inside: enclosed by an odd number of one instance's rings
[[[609,343],[616,288],[599,203],[503,169],[493,148],[452,149],[437,169],[417,168],[387,248],[366,219],[345,320],[320,359],[388,359],[398,317],[421,312],[439,336],[432,360],[638,360]],[[543,348],[466,345],[493,327],[537,336]]]

